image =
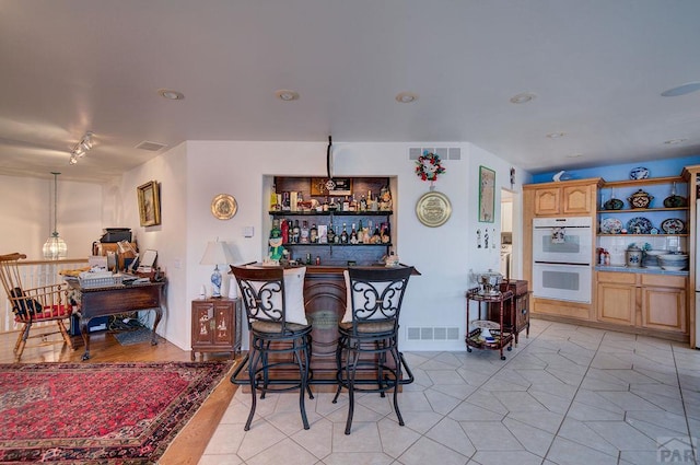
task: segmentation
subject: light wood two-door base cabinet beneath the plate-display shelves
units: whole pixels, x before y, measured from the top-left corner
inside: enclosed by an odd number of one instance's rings
[[[686,277],[598,271],[597,281],[599,322],[688,334]]]

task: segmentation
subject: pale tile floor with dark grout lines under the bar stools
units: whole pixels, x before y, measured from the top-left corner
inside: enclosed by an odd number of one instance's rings
[[[529,338],[498,351],[406,352],[399,427],[390,396],[268,395],[243,431],[236,393],[200,465],[657,464],[700,457],[700,351],[662,339],[534,319]],[[658,449],[657,444],[666,444]],[[690,445],[696,444],[692,451]]]

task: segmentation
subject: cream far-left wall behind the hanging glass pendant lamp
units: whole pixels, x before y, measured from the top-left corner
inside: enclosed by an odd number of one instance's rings
[[[57,230],[68,245],[68,258],[88,257],[102,235],[102,186],[58,176],[57,190]],[[54,178],[0,176],[0,254],[44,259],[42,246],[54,231]]]

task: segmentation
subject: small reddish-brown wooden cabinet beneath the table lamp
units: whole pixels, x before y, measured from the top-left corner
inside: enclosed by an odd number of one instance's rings
[[[199,352],[241,351],[241,299],[202,299],[192,301],[191,360]]]

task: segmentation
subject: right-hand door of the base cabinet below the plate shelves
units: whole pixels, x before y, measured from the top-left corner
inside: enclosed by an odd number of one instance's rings
[[[643,288],[642,326],[687,333],[686,291],[674,288]]]

